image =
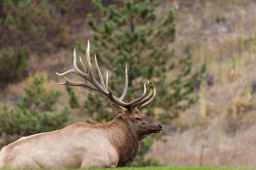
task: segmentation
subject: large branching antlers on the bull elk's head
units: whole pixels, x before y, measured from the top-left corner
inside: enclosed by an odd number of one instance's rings
[[[138,109],[146,107],[148,104],[150,104],[154,100],[155,95],[156,95],[155,87],[154,87],[154,90],[152,88],[150,88],[150,93],[148,94],[147,97],[144,98],[144,96],[146,95],[146,85],[144,84],[144,92],[143,92],[141,97],[139,97],[138,99],[135,99],[133,101],[130,101],[130,103],[125,103],[125,102],[122,101],[125,98],[125,95],[126,95],[126,92],[127,92],[127,87],[128,87],[128,75],[127,75],[127,65],[126,64],[125,64],[125,88],[123,90],[123,94],[122,94],[121,97],[119,97],[119,98],[115,97],[113,95],[112,90],[110,90],[110,88],[109,88],[108,71],[106,73],[106,86],[105,86],[104,79],[102,77],[100,68],[98,67],[96,56],[95,56],[95,64],[96,64],[98,76],[100,77],[100,83],[98,83],[97,80],[94,78],[93,70],[92,70],[92,63],[90,62],[89,50],[90,50],[90,44],[89,44],[89,40],[88,40],[88,46],[87,46],[87,51],[86,51],[86,59],[87,59],[87,62],[88,62],[88,67],[89,67],[88,68],[88,73],[86,73],[86,71],[85,71],[85,66],[84,66],[84,63],[82,62],[81,57],[80,57],[81,70],[79,70],[79,68],[77,67],[76,50],[75,49],[74,49],[74,58],[73,58],[73,69],[65,71],[65,73],[62,73],[62,74],[56,73],[59,76],[74,73],[74,74],[77,74],[77,75],[81,76],[82,78],[84,78],[84,81],[82,81],[82,82],[72,82],[71,80],[68,80],[67,78],[65,78],[66,82],[58,83],[58,84],[60,84],[60,85],[69,85],[69,86],[88,87],[92,90],[100,92],[101,94],[109,97],[109,99],[111,101],[113,101],[113,103],[128,109],[128,111],[133,111],[133,109],[135,107],[137,107]],[[153,93],[153,91],[154,91],[154,93]]]

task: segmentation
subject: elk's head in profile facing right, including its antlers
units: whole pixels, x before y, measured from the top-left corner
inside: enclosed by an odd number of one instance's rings
[[[75,49],[74,49],[74,57],[73,57],[73,69],[65,71],[65,73],[62,73],[62,74],[56,73],[59,76],[74,73],[81,76],[81,78],[84,78],[84,80],[82,82],[72,82],[71,80],[68,80],[67,78],[65,78],[66,82],[59,83],[59,84],[69,85],[69,86],[84,86],[107,96],[111,101],[113,101],[113,104],[112,104],[113,112],[119,115],[120,117],[122,117],[123,120],[126,120],[129,124],[133,124],[132,127],[134,128],[134,130],[138,135],[139,134],[142,135],[142,139],[151,133],[159,133],[163,129],[163,125],[160,124],[158,121],[155,121],[154,119],[140,113],[138,110],[143,107],[146,107],[155,99],[155,95],[156,95],[155,86],[150,88],[150,92],[148,96],[145,97],[147,90],[146,90],[146,84],[144,84],[144,92],[142,96],[139,97],[138,99],[130,101],[129,103],[125,103],[123,99],[125,98],[125,95],[127,92],[127,86],[128,86],[127,65],[125,65],[125,88],[123,90],[123,94],[121,97],[116,97],[113,95],[113,92],[112,90],[110,90],[110,87],[108,84],[109,82],[108,71],[106,73],[106,84],[104,83],[104,79],[98,67],[96,56],[95,56],[95,63],[96,63],[97,73],[100,78],[100,83],[98,83],[97,80],[94,78],[93,71],[92,71],[92,64],[90,62],[89,50],[90,50],[90,45],[88,41],[88,47],[86,51],[86,59],[89,67],[88,73],[86,73],[85,71],[85,66],[84,66],[84,63],[82,62],[81,57],[80,57],[81,70],[79,70],[79,68],[77,67]]]

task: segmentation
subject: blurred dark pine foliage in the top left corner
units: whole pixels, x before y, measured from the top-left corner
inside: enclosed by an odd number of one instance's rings
[[[14,1],[0,2],[0,31],[2,45],[11,43],[13,37],[19,37],[20,42],[28,39],[41,41],[44,38],[44,26],[52,20],[55,6],[48,5],[48,1]],[[17,42],[16,42],[17,44]]]

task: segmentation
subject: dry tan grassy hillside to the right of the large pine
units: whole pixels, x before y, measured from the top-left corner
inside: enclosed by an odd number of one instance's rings
[[[148,156],[166,166],[255,168],[254,1],[172,1],[176,54],[207,62],[213,86],[165,129]],[[173,130],[173,129],[176,130]]]

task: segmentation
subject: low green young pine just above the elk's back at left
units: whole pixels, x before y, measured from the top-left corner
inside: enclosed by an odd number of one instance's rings
[[[43,74],[36,75],[29,87],[24,88],[23,99],[17,109],[10,110],[4,105],[0,111],[0,137],[5,145],[14,142],[20,136],[52,131],[64,128],[70,120],[67,107],[57,112],[54,107],[61,93],[43,87],[46,79]]]

